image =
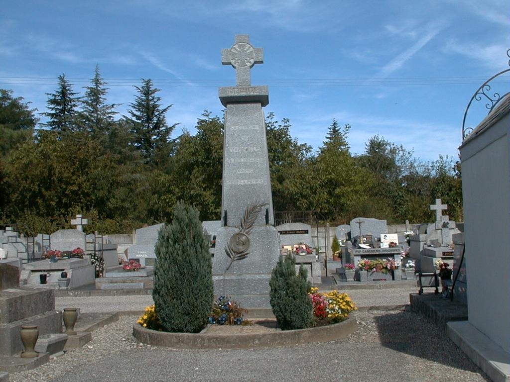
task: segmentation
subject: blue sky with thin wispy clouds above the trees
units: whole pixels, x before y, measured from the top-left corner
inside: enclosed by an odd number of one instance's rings
[[[126,114],[133,85],[151,78],[173,104],[174,135],[193,132],[206,109],[221,115],[218,87],[234,86],[235,70],[220,51],[236,34],[264,48],[251,83],[269,86],[265,113],[290,119],[315,149],[336,118],[352,126],[354,153],[379,134],[422,160],[456,159],[472,94],[509,65],[508,0],[5,0],[2,10],[1,88],[44,112],[59,74],[83,93],[98,64]],[[468,125],[484,114],[473,105]]]

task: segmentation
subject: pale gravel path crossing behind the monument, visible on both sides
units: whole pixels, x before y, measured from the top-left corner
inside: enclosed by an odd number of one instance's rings
[[[418,288],[393,289],[360,289],[347,290],[352,301],[358,307],[395,306],[409,304],[409,293],[416,293]],[[116,312],[116,311],[143,311],[146,306],[152,305],[151,295],[133,296],[98,296],[98,297],[56,297],[55,308],[80,308],[82,312]]]

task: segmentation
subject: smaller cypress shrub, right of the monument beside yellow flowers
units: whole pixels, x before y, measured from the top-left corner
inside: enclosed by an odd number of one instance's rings
[[[308,328],[313,319],[311,285],[307,270],[301,265],[296,275],[296,261],[292,256],[280,257],[269,281],[273,314],[282,330]]]

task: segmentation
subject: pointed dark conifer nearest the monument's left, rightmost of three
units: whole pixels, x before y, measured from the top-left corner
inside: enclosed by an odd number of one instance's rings
[[[142,86],[135,86],[138,95],[126,117],[134,136],[134,145],[147,162],[164,161],[171,154],[170,134],[176,124],[168,126],[166,112],[172,105],[162,107],[160,89],[154,88],[152,80],[142,78]]]

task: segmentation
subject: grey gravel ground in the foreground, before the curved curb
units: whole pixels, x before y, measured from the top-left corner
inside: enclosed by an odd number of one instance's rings
[[[488,381],[432,323],[406,311],[355,312],[345,340],[244,350],[181,350],[137,344],[136,316],[93,332],[81,349],[11,382],[76,381]]]

